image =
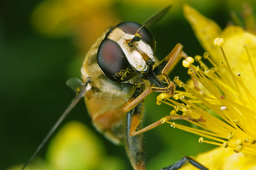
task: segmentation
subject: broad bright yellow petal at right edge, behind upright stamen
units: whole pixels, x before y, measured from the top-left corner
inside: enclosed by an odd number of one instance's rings
[[[235,74],[240,73],[247,88],[252,94],[256,94],[256,77],[253,73],[255,69],[252,69],[252,64],[256,65],[256,36],[248,31],[244,31],[241,27],[228,26],[222,32],[221,37],[225,39],[223,49],[232,71]],[[249,60],[244,45],[247,45],[252,62]]]

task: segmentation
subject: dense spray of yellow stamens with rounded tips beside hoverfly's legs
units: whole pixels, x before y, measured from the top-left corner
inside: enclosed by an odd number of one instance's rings
[[[201,61],[202,57],[198,55],[195,56],[195,59],[187,57],[183,60],[183,66],[189,67],[187,73],[191,75],[195,85],[187,85],[179,77],[175,77],[176,85],[185,91],[175,90],[173,99],[169,98],[170,96],[167,94],[157,96],[157,102],[163,102],[174,108],[170,115],[166,116],[167,120],[161,119],[161,122],[202,136],[199,139],[200,143],[215,144],[224,148],[229,147],[237,152],[256,155],[256,131],[252,126],[256,122],[254,109],[256,108],[256,97],[244,85],[241,74],[232,72],[222,48],[224,39],[215,39],[214,43],[221,48],[225,60],[225,63],[221,64],[223,68],[217,65],[214,68],[207,68]],[[208,53],[204,54],[204,58],[211,61]],[[199,62],[200,68],[192,64],[194,60]],[[232,77],[232,82],[229,82],[228,76]],[[204,110],[198,104],[204,105]],[[220,118],[205,110],[215,112]],[[178,111],[181,112],[178,113]],[[183,119],[201,129],[169,122],[170,119]],[[210,141],[204,140],[203,137]]]

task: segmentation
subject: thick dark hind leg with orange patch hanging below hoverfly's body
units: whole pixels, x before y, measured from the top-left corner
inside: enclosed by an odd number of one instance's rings
[[[139,130],[140,117],[143,112],[144,101],[141,101],[135,108],[127,113],[126,128],[126,152],[130,158],[134,170],[145,170],[145,146],[143,134],[130,136],[130,130]]]

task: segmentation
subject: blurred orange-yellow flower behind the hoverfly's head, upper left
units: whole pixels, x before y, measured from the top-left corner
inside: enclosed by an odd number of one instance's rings
[[[44,0],[32,14],[32,23],[45,35],[75,34],[83,54],[102,33],[119,22],[113,0]]]

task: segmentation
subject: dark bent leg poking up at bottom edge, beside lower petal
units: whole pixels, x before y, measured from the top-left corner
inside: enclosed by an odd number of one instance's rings
[[[182,167],[187,161],[189,161],[190,164],[192,164],[194,167],[198,168],[199,170],[209,170],[207,167],[204,165],[200,164],[198,161],[195,159],[192,159],[191,156],[184,156],[182,159],[179,161],[175,162],[175,164],[172,164],[169,167],[164,167],[160,170],[178,170],[180,167]]]

